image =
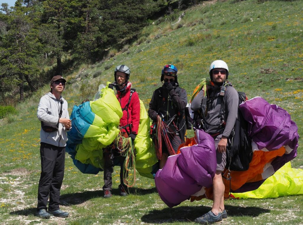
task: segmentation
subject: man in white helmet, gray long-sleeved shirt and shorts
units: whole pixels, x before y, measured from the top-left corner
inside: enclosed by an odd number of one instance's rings
[[[224,61],[215,60],[212,62],[209,76],[214,86],[207,86],[207,113],[202,122],[203,130],[215,139],[217,168],[213,178],[214,203],[212,209],[205,215],[195,219],[196,222],[204,224],[216,223],[222,219],[227,219],[224,209],[225,187],[221,173],[226,165],[227,138],[231,134],[238,116],[239,101],[238,92],[232,86],[227,85],[228,66]],[[191,110],[201,110],[204,91],[201,90],[193,99]]]

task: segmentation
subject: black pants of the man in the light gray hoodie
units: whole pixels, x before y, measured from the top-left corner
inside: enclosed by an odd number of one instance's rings
[[[38,187],[37,210],[47,210],[47,200],[49,196],[48,210],[59,209],[60,188],[64,177],[65,147],[41,142],[41,175]]]

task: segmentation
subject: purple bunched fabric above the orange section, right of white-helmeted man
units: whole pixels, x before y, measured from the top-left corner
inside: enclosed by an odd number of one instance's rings
[[[298,148],[298,127],[286,110],[261,97],[252,98],[239,108],[248,121],[248,134],[259,150],[272,151],[282,146]]]

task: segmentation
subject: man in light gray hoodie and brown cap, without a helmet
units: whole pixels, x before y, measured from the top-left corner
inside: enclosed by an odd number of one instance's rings
[[[37,116],[42,122],[57,127],[57,130],[40,130],[41,175],[38,186],[38,216],[67,217],[69,213],[59,208],[60,189],[64,176],[66,131],[72,128],[67,101],[61,96],[66,80],[57,75],[51,80],[51,91],[39,102]],[[62,106],[62,107],[61,107]],[[60,116],[61,114],[61,116]],[[47,211],[47,200],[49,205]]]

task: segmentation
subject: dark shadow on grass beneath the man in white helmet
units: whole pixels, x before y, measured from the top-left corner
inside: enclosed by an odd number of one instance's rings
[[[251,216],[256,217],[261,213],[268,213],[268,209],[259,207],[238,207],[225,205],[228,216]],[[162,210],[152,210],[141,217],[145,223],[174,223],[193,222],[195,218],[202,216],[211,210],[208,206],[180,206],[175,208],[165,208]]]

